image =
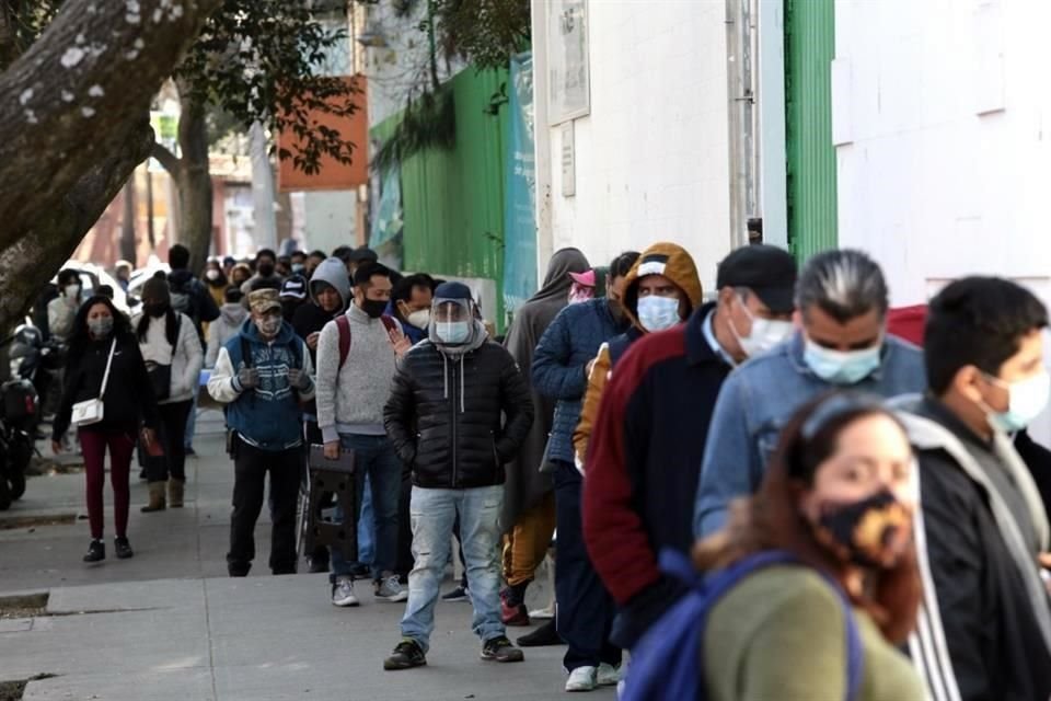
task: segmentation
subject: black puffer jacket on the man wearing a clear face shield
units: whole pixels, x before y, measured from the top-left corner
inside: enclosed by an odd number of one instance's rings
[[[402,359],[384,426],[413,484],[472,489],[504,484],[533,422],[529,388],[511,355],[485,338],[453,355],[421,341]],[[501,416],[506,421],[501,422]]]

